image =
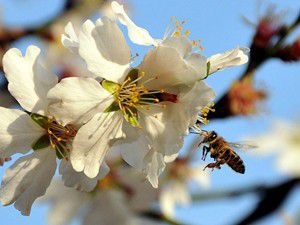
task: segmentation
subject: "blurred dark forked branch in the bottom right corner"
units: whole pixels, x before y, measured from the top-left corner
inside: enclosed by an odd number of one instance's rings
[[[233,191],[220,191],[198,194],[193,196],[194,201],[218,200],[221,198],[239,197],[249,193],[260,196],[260,201],[255,209],[236,225],[249,225],[266,216],[275,213],[286,201],[287,197],[296,185],[300,183],[300,178],[294,178],[272,186],[256,185],[245,187]]]

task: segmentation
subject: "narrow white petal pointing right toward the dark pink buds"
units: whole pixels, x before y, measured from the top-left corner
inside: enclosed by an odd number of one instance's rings
[[[224,53],[216,54],[208,58],[210,62],[209,74],[227,67],[239,66],[248,62],[248,48],[237,47]]]

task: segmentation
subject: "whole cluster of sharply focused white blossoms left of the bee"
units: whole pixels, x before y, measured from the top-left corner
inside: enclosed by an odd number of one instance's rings
[[[207,59],[178,30],[152,38],[122,5],[112,2],[111,7],[116,20],[87,20],[79,29],[68,23],[62,35],[70,54],[86,63],[86,76],[58,82],[40,62],[36,46],[29,46],[25,56],[18,49],[4,55],[8,89],[24,111],[0,107],[0,158],[26,155],[5,172],[0,201],[15,203],[23,215],[45,194],[57,162],[65,186],[91,192],[107,179],[108,154],[118,152],[157,188],[189,127],[215,97],[203,79],[248,60],[245,48]],[[118,22],[127,27],[134,44],[149,48],[135,68]],[[80,205],[78,198],[73,200]],[[101,195],[98,204],[103,198],[107,206],[107,199],[118,196]]]

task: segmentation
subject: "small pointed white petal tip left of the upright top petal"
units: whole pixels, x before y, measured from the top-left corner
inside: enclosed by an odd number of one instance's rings
[[[68,48],[71,52],[77,53],[79,47],[78,36],[71,22],[66,25],[65,32],[66,34],[61,36],[63,46]]]

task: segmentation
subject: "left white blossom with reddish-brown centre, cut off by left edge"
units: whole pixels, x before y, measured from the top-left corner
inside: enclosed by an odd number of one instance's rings
[[[8,89],[26,112],[0,107],[0,158],[26,155],[5,172],[0,201],[3,205],[15,202],[23,215],[29,215],[35,199],[44,195],[57,167],[56,158],[62,159],[60,173],[66,185],[84,190],[96,185],[96,181],[74,171],[67,161],[77,127],[63,126],[48,113],[46,95],[57,77],[41,65],[39,54],[39,48],[29,46],[25,56],[13,48],[3,58]],[[31,149],[34,151],[27,154]]]

